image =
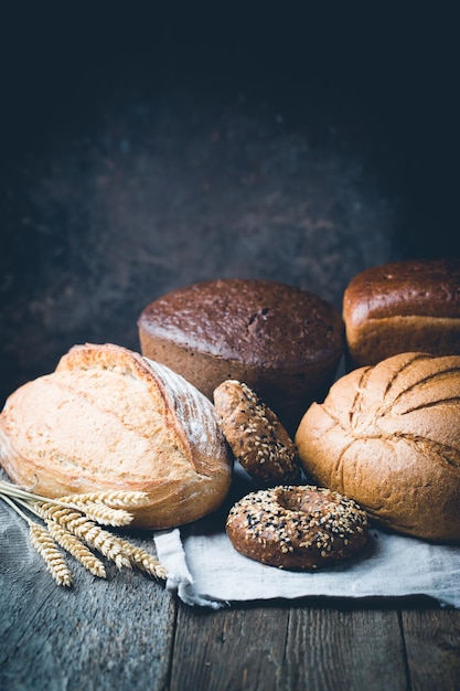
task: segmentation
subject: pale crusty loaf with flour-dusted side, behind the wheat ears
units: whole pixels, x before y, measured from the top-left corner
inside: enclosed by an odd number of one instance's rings
[[[76,346],[18,389],[0,415],[9,477],[55,498],[143,491],[133,525],[169,528],[215,510],[232,458],[214,406],[182,376],[125,348]]]

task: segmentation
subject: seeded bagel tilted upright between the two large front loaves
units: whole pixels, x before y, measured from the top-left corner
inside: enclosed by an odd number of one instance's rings
[[[218,423],[235,458],[263,486],[300,479],[297,449],[275,413],[243,382],[214,391]]]

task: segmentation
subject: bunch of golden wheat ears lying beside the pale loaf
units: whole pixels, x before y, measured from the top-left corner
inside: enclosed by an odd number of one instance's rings
[[[101,578],[106,577],[105,566],[92,550],[115,562],[118,568],[137,566],[156,578],[167,577],[154,556],[100,528],[129,524],[132,515],[126,509],[145,504],[145,492],[104,491],[49,499],[0,481],[0,498],[29,523],[31,542],[58,585],[69,586],[72,574],[56,543]],[[32,521],[18,504],[41,518],[46,528]]]

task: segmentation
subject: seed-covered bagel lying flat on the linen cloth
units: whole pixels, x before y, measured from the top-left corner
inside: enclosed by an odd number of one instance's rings
[[[308,571],[349,559],[365,544],[366,513],[325,488],[278,486],[250,492],[231,509],[227,535],[252,560]]]

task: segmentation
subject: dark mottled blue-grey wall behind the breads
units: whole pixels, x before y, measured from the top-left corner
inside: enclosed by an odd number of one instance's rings
[[[454,2],[93,4],[0,11],[1,401],[180,285],[458,254]]]

